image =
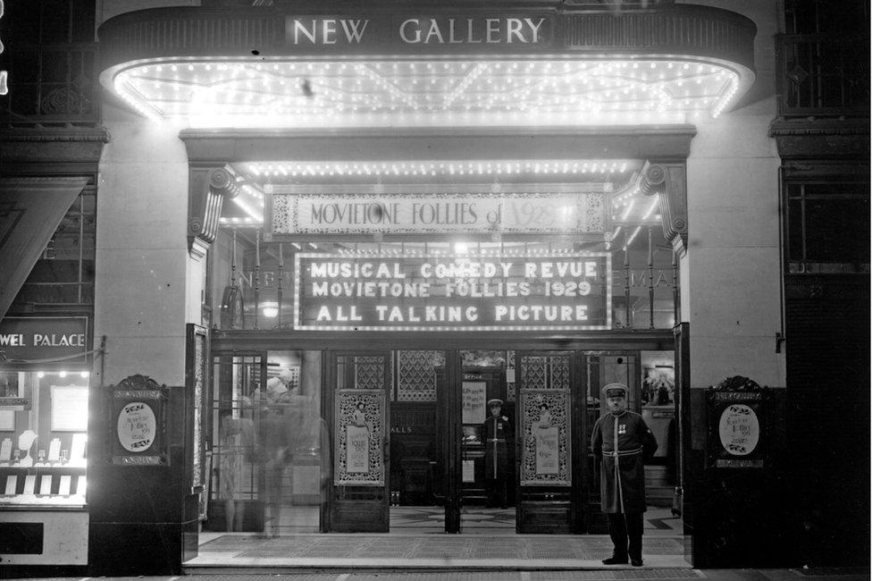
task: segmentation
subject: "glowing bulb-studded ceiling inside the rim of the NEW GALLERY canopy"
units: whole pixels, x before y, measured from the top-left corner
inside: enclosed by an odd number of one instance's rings
[[[423,75],[423,76],[422,76]],[[301,76],[313,92],[288,90]],[[119,72],[114,87],[138,111],[223,114],[350,114],[482,111],[539,114],[614,110],[720,114],[738,89],[725,67],[677,61],[471,61],[144,64]],[[418,87],[425,89],[418,90]],[[464,97],[464,98],[461,98]],[[625,97],[625,98],[621,98]],[[150,103],[151,106],[147,106]]]

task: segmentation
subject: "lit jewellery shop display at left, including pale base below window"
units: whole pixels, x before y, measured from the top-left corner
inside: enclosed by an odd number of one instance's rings
[[[0,375],[0,559],[84,565],[88,373]]]

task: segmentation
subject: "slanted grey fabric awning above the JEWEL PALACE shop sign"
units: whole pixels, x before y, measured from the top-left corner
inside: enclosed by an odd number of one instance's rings
[[[0,178],[0,316],[86,183],[86,178]]]

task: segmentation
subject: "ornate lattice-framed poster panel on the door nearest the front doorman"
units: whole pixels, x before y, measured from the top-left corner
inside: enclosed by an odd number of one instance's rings
[[[569,390],[521,392],[521,485],[571,486]]]

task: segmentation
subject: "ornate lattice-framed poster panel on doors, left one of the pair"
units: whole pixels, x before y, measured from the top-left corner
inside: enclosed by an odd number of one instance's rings
[[[381,390],[340,390],[336,393],[334,484],[338,486],[384,485],[381,440],[384,437],[385,400],[384,392]],[[349,436],[353,431],[359,433],[360,430],[368,433],[365,445],[366,470],[349,471]],[[357,453],[360,453],[360,450],[357,450]],[[354,455],[354,450],[351,450],[350,456]]]

